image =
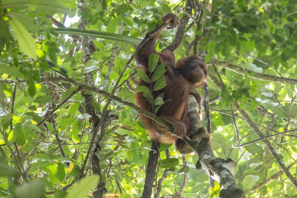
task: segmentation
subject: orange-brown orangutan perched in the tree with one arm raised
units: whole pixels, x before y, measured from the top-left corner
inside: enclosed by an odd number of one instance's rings
[[[144,40],[146,40],[148,35],[154,33],[162,25],[170,21],[173,27],[178,25],[178,18],[173,14],[167,14],[162,20],[163,23],[161,25],[157,25],[157,27],[152,32],[146,34]],[[148,58],[149,55],[154,52],[154,46],[160,33],[145,43],[137,52],[135,57],[137,63],[141,65],[141,68],[148,76],[150,76],[148,71]],[[196,97],[197,102],[201,102],[201,96],[195,90],[195,88],[203,84],[207,75],[207,69],[197,56],[190,56],[180,59],[175,64],[175,56],[171,51],[163,49],[161,53],[154,53],[159,54],[158,64],[161,64],[164,61],[167,62],[167,72],[164,74],[167,83],[166,87],[158,91],[152,91],[154,98],[157,98],[160,93],[165,93],[163,100],[166,102],[158,110],[157,116],[172,124],[175,128],[176,134],[173,135],[172,133],[168,132],[166,128],[157,125],[157,123],[146,116],[141,115],[141,118],[146,124],[146,127],[153,139],[163,143],[175,143],[177,150],[182,153],[184,147],[186,147],[187,144],[178,137],[183,137],[184,135],[190,137],[190,134],[188,133],[190,130],[190,120],[187,116],[188,95],[189,93],[193,94]],[[198,69],[198,65],[201,69]],[[198,79],[200,76],[201,79]],[[194,84],[195,86],[193,86]],[[140,79],[139,85],[146,86],[151,90],[151,87],[154,86],[154,83],[146,83]],[[136,93],[135,99],[137,105],[140,108],[152,112],[152,105],[147,101],[146,97],[143,96],[142,92]]]

